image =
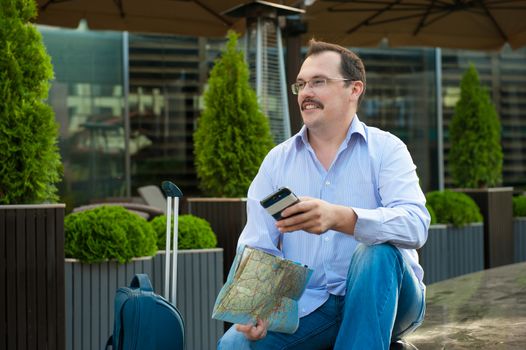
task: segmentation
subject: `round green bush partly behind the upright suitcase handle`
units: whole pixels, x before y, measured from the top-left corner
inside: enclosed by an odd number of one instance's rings
[[[173,229],[173,218],[171,227]],[[179,249],[215,248],[217,238],[208,221],[194,215],[179,216],[178,241]],[[166,248],[166,215],[157,216],[150,224],[157,234],[157,247]],[[172,242],[173,247],[173,242]]]

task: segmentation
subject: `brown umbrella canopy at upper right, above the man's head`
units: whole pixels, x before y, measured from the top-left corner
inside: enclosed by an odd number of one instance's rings
[[[305,18],[307,38],[348,46],[526,45],[526,0],[317,0]]]

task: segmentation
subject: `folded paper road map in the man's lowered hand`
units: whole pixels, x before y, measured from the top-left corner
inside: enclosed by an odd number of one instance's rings
[[[258,249],[238,249],[227,281],[217,296],[212,318],[239,324],[268,320],[268,330],[294,333],[298,300],[312,270]]]

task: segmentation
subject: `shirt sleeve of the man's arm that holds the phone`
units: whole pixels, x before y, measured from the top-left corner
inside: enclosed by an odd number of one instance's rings
[[[380,207],[353,208],[358,217],[356,240],[368,245],[389,242],[400,248],[422,247],[431,221],[426,199],[407,147],[394,137],[384,144],[378,167],[378,193]]]

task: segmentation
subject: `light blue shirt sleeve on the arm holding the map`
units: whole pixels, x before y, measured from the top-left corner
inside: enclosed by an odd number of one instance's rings
[[[278,249],[281,233],[276,228],[274,218],[260,204],[261,199],[277,189],[266,169],[269,162],[271,160],[267,156],[248,189],[247,223],[239,237],[238,247],[246,245],[282,257]]]

